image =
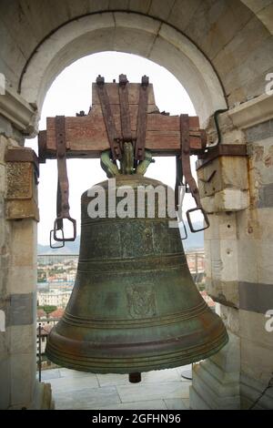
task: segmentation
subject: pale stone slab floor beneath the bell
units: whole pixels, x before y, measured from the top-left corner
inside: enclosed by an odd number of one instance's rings
[[[142,382],[129,383],[123,374],[93,374],[68,369],[42,372],[51,383],[56,409],[187,410],[191,366],[147,372]]]

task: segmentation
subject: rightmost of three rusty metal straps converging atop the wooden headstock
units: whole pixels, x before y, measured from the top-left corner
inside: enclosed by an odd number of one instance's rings
[[[148,85],[149,78],[143,76],[141,85],[139,86],[139,101],[137,113],[137,129],[136,129],[136,160],[144,160],[145,158],[145,141],[147,128],[147,102],[148,102]]]

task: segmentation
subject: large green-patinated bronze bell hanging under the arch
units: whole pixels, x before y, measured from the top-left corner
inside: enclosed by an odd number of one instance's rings
[[[116,175],[116,189],[167,186],[140,174]],[[187,267],[179,229],[168,218],[91,219],[82,195],[76,284],[51,331],[48,358],[86,372],[136,373],[203,360],[227,343]],[[116,198],[116,202],[118,202]],[[136,207],[137,210],[137,207]]]

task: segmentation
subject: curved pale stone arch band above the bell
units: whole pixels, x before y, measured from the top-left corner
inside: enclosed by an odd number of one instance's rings
[[[227,107],[216,71],[187,36],[159,19],[125,12],[86,15],[61,26],[29,61],[21,95],[40,111],[48,87],[66,66],[106,50],[144,56],[165,66],[186,88],[202,123]]]

